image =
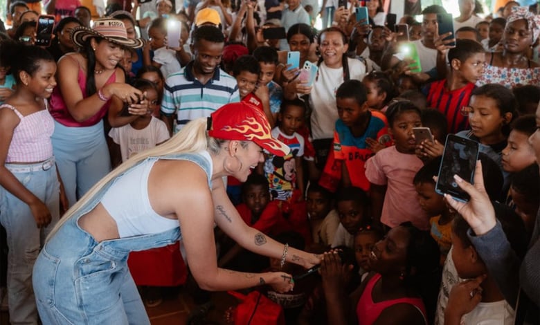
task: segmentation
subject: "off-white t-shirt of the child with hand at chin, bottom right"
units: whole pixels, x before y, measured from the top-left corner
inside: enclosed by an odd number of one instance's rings
[[[514,309],[506,300],[495,302],[480,302],[476,307],[461,318],[462,325],[512,325],[514,324]]]

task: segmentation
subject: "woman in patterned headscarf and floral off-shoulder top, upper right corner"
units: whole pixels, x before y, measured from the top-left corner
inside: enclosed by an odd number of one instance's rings
[[[512,10],[503,33],[503,52],[486,53],[486,62],[489,63],[476,82],[477,86],[540,86],[540,66],[528,57],[540,35],[540,16],[529,12],[527,7],[514,7]]]

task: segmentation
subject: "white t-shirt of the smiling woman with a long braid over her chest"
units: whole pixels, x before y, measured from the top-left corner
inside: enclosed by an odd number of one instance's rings
[[[357,59],[348,58],[350,80],[362,80],[366,66]],[[328,68],[323,62],[318,67],[318,78],[309,95],[312,111],[312,136],[314,140],[334,138],[334,127],[339,118],[336,91],[343,84],[343,68]]]

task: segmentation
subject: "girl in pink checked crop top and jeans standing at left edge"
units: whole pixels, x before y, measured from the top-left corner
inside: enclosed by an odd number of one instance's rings
[[[15,93],[0,105],[0,223],[8,234],[10,320],[37,324],[32,268],[60,216],[62,189],[51,143],[54,123],[46,109],[56,64],[38,46],[10,44],[1,50],[13,50],[6,57],[17,81]]]

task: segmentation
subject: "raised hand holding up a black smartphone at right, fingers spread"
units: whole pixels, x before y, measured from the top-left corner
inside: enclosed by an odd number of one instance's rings
[[[463,203],[455,200],[449,194],[444,194],[446,201],[469,223],[471,229],[478,236],[489,232],[496,225],[495,210],[487,192],[485,192],[482,175],[482,163],[476,162],[474,170],[474,185],[459,176],[453,176],[460,189],[463,189],[471,198]]]

